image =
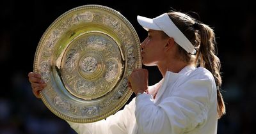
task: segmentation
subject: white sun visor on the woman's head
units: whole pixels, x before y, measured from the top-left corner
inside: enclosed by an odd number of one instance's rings
[[[154,19],[138,16],[139,24],[148,31],[148,29],[163,31],[168,36],[174,38],[174,41],[184,48],[188,53],[195,53],[195,47],[184,36],[177,26],[172,22],[167,13],[160,15]]]

